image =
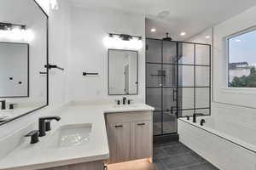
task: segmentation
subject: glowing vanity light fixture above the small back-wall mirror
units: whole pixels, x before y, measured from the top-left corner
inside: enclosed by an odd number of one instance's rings
[[[107,48],[126,48],[140,49],[143,48],[143,37],[131,36],[128,34],[109,33],[108,37],[103,40]]]

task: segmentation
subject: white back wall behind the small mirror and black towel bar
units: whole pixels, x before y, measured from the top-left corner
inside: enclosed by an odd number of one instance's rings
[[[71,52],[68,58],[68,99],[119,99],[108,96],[108,48],[103,38],[108,33],[125,33],[145,37],[143,15],[121,14],[113,11],[94,11],[73,7],[71,15]],[[143,40],[144,43],[144,40]],[[145,48],[139,51],[139,95],[145,99]],[[96,71],[99,77],[83,77],[83,71]]]

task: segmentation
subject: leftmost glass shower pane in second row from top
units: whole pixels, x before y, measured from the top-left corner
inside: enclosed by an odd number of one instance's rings
[[[147,64],[147,87],[160,87],[162,85],[162,77],[166,73],[162,71],[162,66],[158,64]]]

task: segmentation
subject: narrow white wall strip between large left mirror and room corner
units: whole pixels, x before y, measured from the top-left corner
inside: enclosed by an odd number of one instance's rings
[[[49,12],[49,63],[64,71],[49,71],[49,105],[67,101],[67,57],[70,54],[70,4],[58,1],[59,9]]]

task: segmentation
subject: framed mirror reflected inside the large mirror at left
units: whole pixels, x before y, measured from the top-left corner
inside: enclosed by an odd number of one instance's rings
[[[0,98],[29,97],[29,44],[0,42]]]

